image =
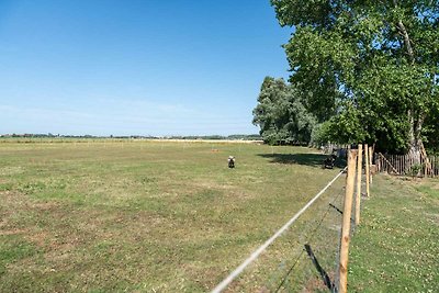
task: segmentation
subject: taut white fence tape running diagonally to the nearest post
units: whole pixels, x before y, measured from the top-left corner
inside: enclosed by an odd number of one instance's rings
[[[346,170],[345,168],[340,171],[329,183],[323,188],[309,202],[307,202],[285,225],[283,225],[273,236],[270,237],[263,245],[256,249],[239,267],[237,267],[227,278],[225,278],[212,293],[219,293],[225,290],[243,271],[248,264],[254,262],[266,249],[269,247],[279,236],[281,236]]]

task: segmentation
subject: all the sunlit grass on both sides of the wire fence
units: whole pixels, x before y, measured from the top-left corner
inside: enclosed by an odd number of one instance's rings
[[[0,143],[0,292],[212,290],[339,170],[301,147],[36,142]],[[334,281],[342,184],[229,291],[327,292],[304,245]],[[374,177],[362,209],[349,290],[436,292],[439,181]]]

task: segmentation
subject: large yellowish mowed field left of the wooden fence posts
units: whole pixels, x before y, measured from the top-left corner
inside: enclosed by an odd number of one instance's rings
[[[339,171],[322,159],[256,144],[2,143],[0,291],[212,290]],[[302,251],[314,217],[267,255]],[[264,269],[249,270],[239,290],[263,289]]]

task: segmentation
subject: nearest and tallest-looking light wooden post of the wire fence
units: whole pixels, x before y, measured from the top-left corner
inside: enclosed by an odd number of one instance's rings
[[[356,159],[357,150],[351,149],[348,154],[348,174],[346,179],[346,194],[341,226],[341,245],[340,245],[340,263],[338,292],[346,293],[348,290],[348,258],[349,258],[349,240],[350,240],[350,221],[352,212],[352,196],[356,179]]]

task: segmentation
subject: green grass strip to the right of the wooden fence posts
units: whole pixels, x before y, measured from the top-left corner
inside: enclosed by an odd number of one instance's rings
[[[438,292],[439,180],[373,181],[351,241],[351,292]]]

